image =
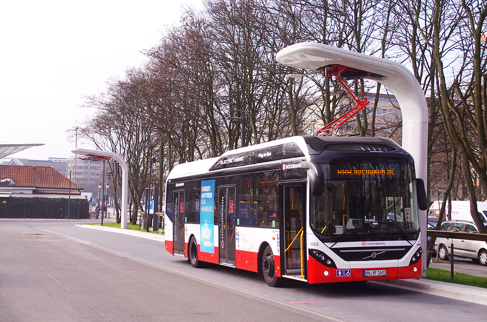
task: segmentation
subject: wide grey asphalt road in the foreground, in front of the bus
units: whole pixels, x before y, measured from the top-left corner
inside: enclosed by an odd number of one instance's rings
[[[255,273],[194,269],[162,242],[76,223],[0,221],[0,320],[485,320],[485,306],[377,283],[271,288]]]

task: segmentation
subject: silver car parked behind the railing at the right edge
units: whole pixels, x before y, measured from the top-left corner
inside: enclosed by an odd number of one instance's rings
[[[441,224],[442,231],[478,233],[477,226],[471,221],[448,220]],[[451,254],[452,239],[436,238],[435,251],[442,260],[448,260]],[[453,255],[458,257],[471,258],[483,266],[487,266],[487,242],[480,240],[456,239],[453,238]]]

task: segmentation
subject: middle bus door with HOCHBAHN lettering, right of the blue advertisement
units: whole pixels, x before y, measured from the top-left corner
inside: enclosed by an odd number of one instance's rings
[[[235,187],[218,187],[220,264],[235,265]]]

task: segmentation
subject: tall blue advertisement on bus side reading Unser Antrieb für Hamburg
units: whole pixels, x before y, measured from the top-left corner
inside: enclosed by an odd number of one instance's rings
[[[200,229],[201,247],[200,250],[214,254],[214,206],[215,206],[215,180],[201,181],[200,198]]]

